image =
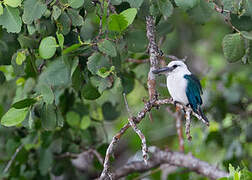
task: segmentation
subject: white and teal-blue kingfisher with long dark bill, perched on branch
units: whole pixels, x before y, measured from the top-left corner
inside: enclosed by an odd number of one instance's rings
[[[202,105],[202,87],[199,79],[193,75],[183,61],[171,61],[167,67],[152,71],[154,74],[166,75],[168,91],[176,103],[191,106],[192,110],[209,122],[204,115]]]

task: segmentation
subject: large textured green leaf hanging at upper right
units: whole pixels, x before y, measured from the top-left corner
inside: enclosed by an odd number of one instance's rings
[[[240,60],[245,54],[245,45],[239,33],[228,34],[222,40],[223,52],[229,62]]]

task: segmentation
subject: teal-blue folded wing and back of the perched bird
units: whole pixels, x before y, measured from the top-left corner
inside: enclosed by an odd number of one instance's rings
[[[186,96],[189,104],[194,112],[198,111],[198,106],[202,104],[201,94],[202,87],[199,79],[193,74],[185,75],[184,78],[187,80]]]

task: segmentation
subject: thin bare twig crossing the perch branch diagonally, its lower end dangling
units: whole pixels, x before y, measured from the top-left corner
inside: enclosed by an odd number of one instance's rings
[[[137,135],[139,136],[139,138],[141,139],[141,142],[142,142],[142,153],[143,153],[143,159],[144,159],[144,162],[145,164],[147,164],[147,160],[148,160],[148,147],[146,145],[146,138],[144,136],[144,134],[141,132],[141,130],[137,127],[137,125],[134,123],[134,120],[133,120],[133,115],[130,111],[130,108],[129,108],[129,105],[128,105],[128,102],[127,102],[127,98],[126,98],[126,94],[123,93],[123,97],[124,97],[124,103],[125,103],[125,106],[126,106],[126,109],[128,111],[128,114],[129,114],[129,123],[130,123],[130,126],[132,127],[132,129],[137,133]]]

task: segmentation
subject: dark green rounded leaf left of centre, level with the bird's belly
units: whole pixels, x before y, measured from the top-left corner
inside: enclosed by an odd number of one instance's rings
[[[81,95],[84,99],[95,100],[101,96],[97,88],[91,83],[87,83],[83,86]]]

